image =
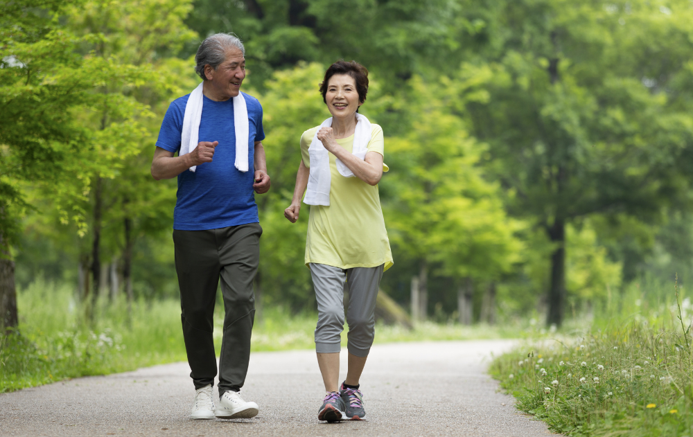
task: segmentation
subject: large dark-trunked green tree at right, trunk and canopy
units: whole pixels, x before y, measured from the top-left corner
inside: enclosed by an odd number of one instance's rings
[[[548,324],[563,321],[569,223],[620,214],[655,222],[663,206],[683,200],[692,131],[677,81],[693,28],[680,3],[681,19],[662,35],[666,14],[649,3],[498,1],[485,59],[457,75],[475,83],[459,90],[462,101],[467,92],[489,95],[456,110],[489,143],[495,177],[516,193],[509,211],[554,244]],[[675,61],[652,62],[658,52]],[[653,73],[665,83],[648,86]]]

